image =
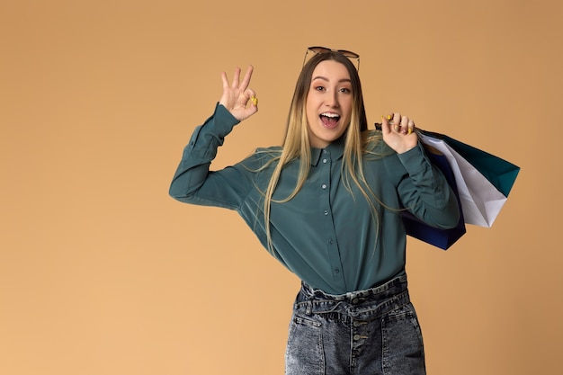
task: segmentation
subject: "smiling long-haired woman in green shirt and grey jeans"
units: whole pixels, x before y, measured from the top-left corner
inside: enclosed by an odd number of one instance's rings
[[[423,374],[400,213],[451,228],[457,202],[424,156],[415,123],[393,113],[380,132],[368,130],[350,54],[315,51],[299,75],[283,146],[210,171],[224,138],[257,112],[253,68],[242,81],[237,69],[232,84],[223,73],[221,99],[184,148],[170,194],[237,210],[299,276],[286,374]]]

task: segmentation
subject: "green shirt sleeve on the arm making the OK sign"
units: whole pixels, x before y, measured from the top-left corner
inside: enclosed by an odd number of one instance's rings
[[[170,184],[170,196],[184,203],[239,209],[252,186],[246,168],[237,164],[210,171],[219,146],[238,122],[225,107],[216,105],[213,115],[194,130],[183,148],[182,160]]]

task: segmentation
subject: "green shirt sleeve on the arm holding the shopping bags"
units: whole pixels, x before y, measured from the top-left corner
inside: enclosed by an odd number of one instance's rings
[[[460,219],[457,199],[442,172],[425,156],[422,144],[397,154],[397,159],[402,168],[395,171],[405,171],[398,183],[403,206],[432,227],[454,228]]]

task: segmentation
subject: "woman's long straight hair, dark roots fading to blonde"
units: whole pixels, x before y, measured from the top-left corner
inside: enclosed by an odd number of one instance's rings
[[[318,53],[310,58],[301,69],[295,91],[290,104],[290,112],[287,119],[287,127],[281,154],[273,156],[273,158],[264,165],[272,165],[277,161],[273,168],[270,181],[264,192],[264,225],[266,229],[267,246],[269,251],[273,251],[272,237],[270,232],[270,208],[272,202],[283,203],[290,201],[300,191],[303,184],[307,180],[310,170],[311,150],[308,139],[308,120],[307,120],[307,96],[311,85],[313,71],[317,65],[326,60],[334,60],[346,67],[352,81],[353,107],[350,124],[344,132],[344,155],[342,172],[344,186],[352,194],[351,181],[359,188],[362,195],[369,202],[372,215],[377,219],[377,210],[373,204],[373,199],[379,201],[371,192],[370,187],[365,183],[365,177],[362,168],[362,155],[370,152],[367,148],[368,144],[375,138],[372,133],[365,131],[368,128],[365,107],[363,104],[362,85],[360,76],[352,61],[343,54],[335,51]],[[295,188],[289,196],[279,200],[273,200],[273,192],[280,180],[281,170],[285,165],[293,160],[299,160],[299,175]],[[354,198],[355,199],[355,198]]]

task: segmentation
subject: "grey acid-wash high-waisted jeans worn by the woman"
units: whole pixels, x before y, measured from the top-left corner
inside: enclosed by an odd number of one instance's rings
[[[423,375],[424,344],[407,276],[329,295],[302,283],[285,354],[286,375]]]

